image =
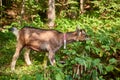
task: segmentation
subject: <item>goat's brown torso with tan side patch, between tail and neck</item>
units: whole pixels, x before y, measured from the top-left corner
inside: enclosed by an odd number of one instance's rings
[[[36,51],[46,49],[49,46],[57,46],[62,33],[56,30],[25,27],[19,31],[19,41]]]

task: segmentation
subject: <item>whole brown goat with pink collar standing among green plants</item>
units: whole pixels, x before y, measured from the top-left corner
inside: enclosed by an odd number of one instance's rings
[[[74,32],[67,32],[65,34],[52,29],[47,30],[32,27],[24,27],[21,30],[12,28],[11,30],[17,37],[16,51],[12,58],[11,70],[15,70],[16,61],[23,48],[26,48],[24,58],[27,65],[31,64],[29,58],[31,49],[35,51],[47,51],[49,53],[49,61],[51,65],[54,65],[55,52],[61,46],[65,45],[65,42],[85,41],[87,39],[85,31],[78,28]]]

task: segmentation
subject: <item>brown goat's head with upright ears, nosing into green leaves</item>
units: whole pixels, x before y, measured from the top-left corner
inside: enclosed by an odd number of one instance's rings
[[[86,41],[88,40],[88,35],[86,34],[85,30],[76,28],[77,36],[76,41]]]

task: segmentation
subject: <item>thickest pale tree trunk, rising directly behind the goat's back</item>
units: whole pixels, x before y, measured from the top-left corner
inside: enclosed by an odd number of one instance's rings
[[[55,25],[55,0],[49,0],[48,7],[48,26],[53,28]]]

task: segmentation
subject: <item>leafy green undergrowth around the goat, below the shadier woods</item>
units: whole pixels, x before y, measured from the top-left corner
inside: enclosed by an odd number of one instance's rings
[[[33,27],[46,28],[36,18]],[[56,30],[74,31],[76,26],[87,31],[90,40],[86,43],[76,42],[61,48],[56,53],[56,66],[48,62],[42,66],[44,53],[32,51],[33,64],[27,66],[21,53],[15,72],[11,72],[10,63],[15,52],[15,36],[7,29],[0,32],[0,80],[120,80],[120,19],[99,19],[81,15],[76,20],[56,19]],[[14,22],[12,26],[20,27]],[[63,63],[60,63],[63,62]]]

